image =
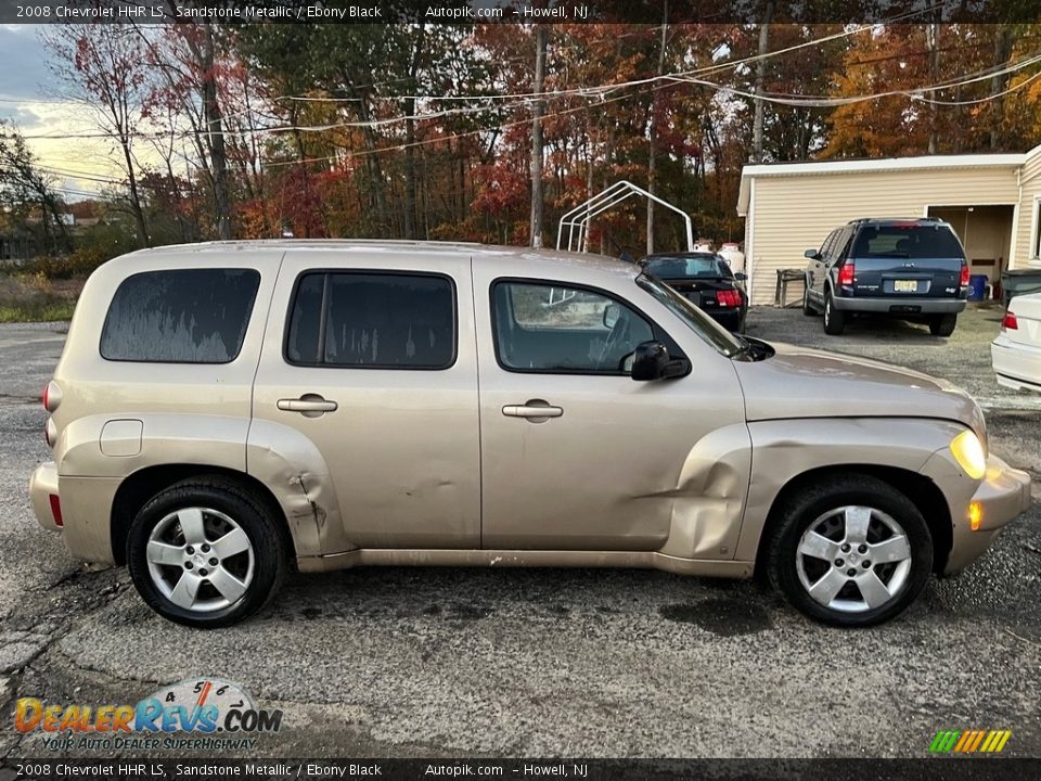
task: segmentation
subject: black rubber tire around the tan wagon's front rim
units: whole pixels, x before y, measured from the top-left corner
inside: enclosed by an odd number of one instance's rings
[[[909,568],[902,575],[899,575],[903,566],[901,563],[871,562],[872,551],[878,552],[882,549],[872,548],[870,545],[865,546],[868,550],[863,554],[859,553],[859,548],[836,553],[838,556],[856,556],[856,559],[826,562],[799,552],[804,535],[811,527],[824,529],[828,527],[827,524],[833,523],[833,518],[848,517],[836,511],[851,505],[872,510],[868,528],[873,532],[869,532],[865,537],[865,540],[871,542],[870,535],[875,534],[875,542],[871,545],[882,545],[887,541],[882,533],[891,532],[891,529],[886,526],[886,521],[881,520],[885,516],[888,516],[888,521],[896,522],[902,529],[908,549],[907,561],[910,562]],[[767,575],[773,587],[789,604],[815,620],[840,627],[866,627],[881,624],[903,612],[917,599],[928,582],[933,572],[933,536],[929,534],[928,525],[914,503],[888,483],[862,474],[831,477],[792,496],[779,509],[779,513],[777,524],[773,528],[769,547],[764,551],[768,556]],[[825,520],[822,521],[822,518]],[[848,528],[844,528],[840,533],[833,533],[830,539],[836,546],[843,545]],[[892,534],[892,538],[898,536]],[[897,542],[899,543],[899,540]],[[837,550],[841,551],[841,548]],[[868,560],[866,568],[864,567],[865,559]],[[843,561],[843,565],[839,565],[838,561]],[[800,566],[804,567],[802,573],[807,581],[812,581],[814,588],[822,585],[826,578],[841,580],[844,585],[830,603],[840,602],[847,610],[828,606],[814,599],[804,585]],[[819,578],[813,576],[810,572],[811,566],[818,567],[814,572],[823,574]],[[848,576],[847,573],[850,572],[854,572],[856,575]],[[872,575],[876,576],[879,582],[888,577],[885,586],[887,590],[889,588],[894,590],[894,593],[887,597],[888,601],[879,601],[877,606],[870,605],[870,600],[863,596],[865,592],[861,591],[860,586],[860,582],[866,582],[861,580],[862,576],[868,578]],[[858,612],[850,612],[854,609]]]

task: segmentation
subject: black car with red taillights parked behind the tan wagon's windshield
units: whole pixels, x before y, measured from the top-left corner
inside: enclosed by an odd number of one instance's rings
[[[748,294],[743,273],[734,273],[727,261],[707,252],[647,255],[640,261],[643,270],[654,274],[681,293],[720,325],[737,333],[745,332]]]

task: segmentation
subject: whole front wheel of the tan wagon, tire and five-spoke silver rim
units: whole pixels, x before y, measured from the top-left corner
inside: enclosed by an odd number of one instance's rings
[[[770,540],[774,588],[825,624],[881,624],[910,605],[933,569],[933,537],[903,494],[868,475],[832,478],[782,509]]]

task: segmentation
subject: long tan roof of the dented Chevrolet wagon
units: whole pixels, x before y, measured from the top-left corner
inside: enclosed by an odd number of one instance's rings
[[[569,266],[578,273],[609,274],[633,278],[640,273],[637,264],[595,255],[560,249],[536,249],[518,246],[496,246],[476,242],[433,242],[385,239],[258,239],[236,241],[215,241],[198,244],[170,244],[147,249],[138,249],[123,258],[163,258],[201,257],[227,254],[230,252],[265,251],[266,254],[292,252],[307,253],[321,257],[332,253],[375,254],[384,256],[409,255],[422,252],[427,255],[468,255],[474,263],[488,264],[497,272],[509,274],[516,271],[518,264],[531,276],[538,276],[541,269],[560,272],[562,265]],[[110,263],[118,264],[121,258]],[[107,264],[106,264],[107,265]],[[577,281],[577,280],[576,280]]]

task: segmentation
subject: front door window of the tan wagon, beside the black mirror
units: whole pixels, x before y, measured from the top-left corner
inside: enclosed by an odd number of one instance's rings
[[[641,315],[589,290],[498,282],[492,305],[499,363],[512,371],[628,374],[637,345],[654,338]]]

